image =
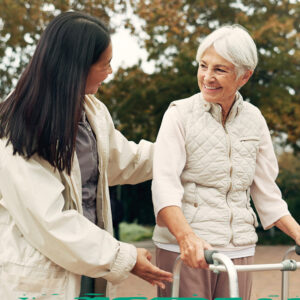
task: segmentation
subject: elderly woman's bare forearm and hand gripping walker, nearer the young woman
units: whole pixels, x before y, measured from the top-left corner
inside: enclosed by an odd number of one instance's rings
[[[169,230],[177,239],[182,261],[192,268],[208,269],[204,250],[211,250],[212,247],[193,232],[178,206],[168,206],[159,212],[158,224],[164,223],[169,225]]]

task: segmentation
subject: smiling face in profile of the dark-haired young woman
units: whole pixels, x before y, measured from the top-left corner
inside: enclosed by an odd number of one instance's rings
[[[105,51],[100,55],[98,61],[96,61],[90,68],[89,74],[86,80],[85,93],[96,94],[101,83],[106,77],[112,73],[110,61],[112,59],[112,45],[109,43]]]

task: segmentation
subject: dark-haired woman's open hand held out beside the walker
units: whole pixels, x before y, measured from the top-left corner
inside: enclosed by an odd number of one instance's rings
[[[148,281],[152,285],[165,288],[164,281],[172,282],[172,273],[161,270],[151,262],[151,253],[144,248],[137,248],[137,259],[131,273]]]

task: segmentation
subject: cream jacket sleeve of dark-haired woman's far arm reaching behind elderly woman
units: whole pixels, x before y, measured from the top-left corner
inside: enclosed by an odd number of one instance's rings
[[[109,126],[108,184],[137,184],[152,179],[154,144],[128,141],[115,129],[106,107],[105,110]]]

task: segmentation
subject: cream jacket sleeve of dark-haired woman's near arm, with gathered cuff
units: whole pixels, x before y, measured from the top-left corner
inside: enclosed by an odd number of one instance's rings
[[[63,210],[64,186],[53,168],[18,155],[7,158],[0,164],[1,202],[27,242],[70,272],[112,283],[125,279],[135,265],[136,248],[76,210]]]

